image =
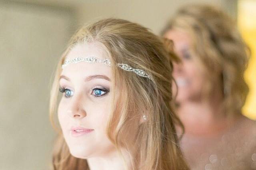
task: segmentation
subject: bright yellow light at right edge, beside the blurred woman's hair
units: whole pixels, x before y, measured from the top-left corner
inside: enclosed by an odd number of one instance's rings
[[[256,0],[238,0],[238,27],[252,52],[244,75],[250,92],[242,111],[256,120]]]

